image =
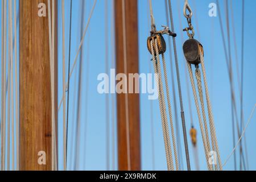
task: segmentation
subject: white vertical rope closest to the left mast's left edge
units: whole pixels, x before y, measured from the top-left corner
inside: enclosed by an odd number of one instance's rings
[[[14,0],[14,52],[15,52],[15,125],[16,125],[16,171],[19,170],[19,101],[18,101],[18,54],[16,27],[16,0]]]

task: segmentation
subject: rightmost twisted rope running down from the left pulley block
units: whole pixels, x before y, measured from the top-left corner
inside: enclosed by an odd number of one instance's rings
[[[166,82],[167,104],[168,104],[169,118],[170,118],[170,124],[171,124],[172,143],[173,143],[173,146],[174,146],[176,171],[179,171],[179,161],[178,161],[177,149],[176,149],[174,123],[172,122],[171,101],[170,101],[169,86],[168,86],[168,76],[167,76],[167,71],[166,71],[166,60],[164,58],[164,54],[162,54],[162,59],[163,59],[164,80]]]

